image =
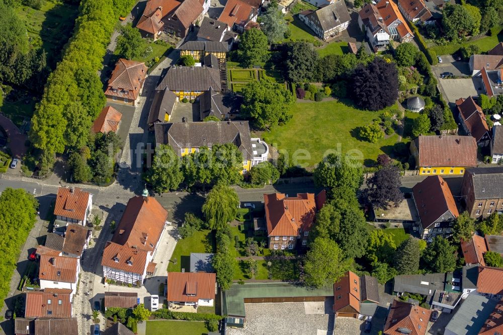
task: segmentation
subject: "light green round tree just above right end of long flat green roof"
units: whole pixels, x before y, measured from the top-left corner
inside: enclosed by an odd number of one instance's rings
[[[333,285],[348,269],[341,248],[331,239],[318,237],[311,243],[304,262],[307,286]]]

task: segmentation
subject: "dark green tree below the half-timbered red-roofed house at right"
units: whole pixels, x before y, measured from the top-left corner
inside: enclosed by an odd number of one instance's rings
[[[458,246],[442,236],[435,236],[433,242],[423,252],[423,262],[434,273],[454,271],[458,259]]]

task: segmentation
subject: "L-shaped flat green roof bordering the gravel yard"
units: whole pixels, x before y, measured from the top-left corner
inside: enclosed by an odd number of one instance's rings
[[[223,292],[223,313],[244,317],[244,298],[322,297],[333,296],[333,286],[319,289],[290,283],[245,283],[232,284]]]

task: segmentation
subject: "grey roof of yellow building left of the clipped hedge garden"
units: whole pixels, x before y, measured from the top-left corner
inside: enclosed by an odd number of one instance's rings
[[[217,67],[208,66],[172,66],[155,88],[162,91],[207,91],[210,87],[220,92],[220,73]]]

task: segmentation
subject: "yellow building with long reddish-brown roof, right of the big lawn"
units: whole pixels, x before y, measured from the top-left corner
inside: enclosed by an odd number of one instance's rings
[[[472,136],[418,136],[410,142],[419,175],[463,175],[477,166],[477,143]]]

